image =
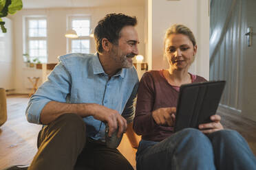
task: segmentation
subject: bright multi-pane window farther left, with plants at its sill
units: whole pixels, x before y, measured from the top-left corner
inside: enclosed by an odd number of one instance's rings
[[[46,63],[47,21],[45,17],[26,17],[25,27],[25,53],[30,55],[30,62]]]

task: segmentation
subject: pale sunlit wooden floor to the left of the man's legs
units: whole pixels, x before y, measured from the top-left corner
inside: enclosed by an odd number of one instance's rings
[[[25,108],[28,96],[8,97],[8,119],[0,127],[0,169],[29,164],[36,153],[36,134],[40,125],[28,123]]]

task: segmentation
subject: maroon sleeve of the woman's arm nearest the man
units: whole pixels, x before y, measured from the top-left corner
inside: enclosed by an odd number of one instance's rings
[[[145,73],[138,86],[136,113],[134,117],[134,132],[138,135],[150,134],[158,125],[153,120],[154,104],[153,78]]]

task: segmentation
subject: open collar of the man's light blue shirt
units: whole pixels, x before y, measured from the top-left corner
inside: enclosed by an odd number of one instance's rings
[[[98,59],[98,53],[94,53],[94,58],[92,59],[92,68],[94,71],[94,74],[100,74],[105,73],[103,66],[100,64],[100,60]],[[120,75],[120,77],[125,77],[125,69],[120,69],[118,73],[114,75],[114,77]]]

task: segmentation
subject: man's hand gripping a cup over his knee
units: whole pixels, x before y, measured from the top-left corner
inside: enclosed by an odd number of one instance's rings
[[[92,116],[94,119],[107,122],[109,125],[109,136],[118,128],[118,138],[120,138],[127,129],[127,121],[116,110],[94,104],[92,107]]]

